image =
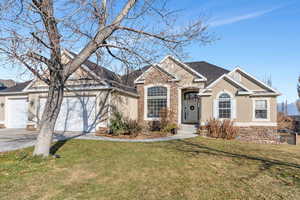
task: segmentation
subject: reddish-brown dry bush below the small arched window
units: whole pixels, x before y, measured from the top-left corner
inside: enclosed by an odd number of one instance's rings
[[[238,135],[239,128],[233,125],[233,121],[211,119],[206,125],[209,137],[223,138],[227,140],[235,139]]]

